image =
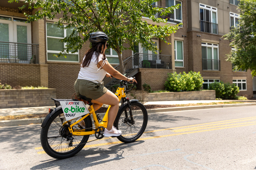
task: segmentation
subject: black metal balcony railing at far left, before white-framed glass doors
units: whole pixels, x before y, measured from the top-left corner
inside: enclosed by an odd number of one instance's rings
[[[38,44],[0,41],[0,62],[38,63]]]

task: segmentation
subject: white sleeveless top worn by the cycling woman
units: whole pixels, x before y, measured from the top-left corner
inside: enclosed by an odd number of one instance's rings
[[[98,62],[103,60],[102,57],[103,57],[103,55],[100,54]],[[83,61],[84,61],[84,59],[85,59],[85,56],[83,58]],[[103,60],[103,63],[100,66],[100,68],[102,68],[102,66],[104,64],[107,64],[107,60],[108,60],[107,58],[105,60]],[[107,74],[107,72],[104,69],[98,68],[97,64],[98,63],[97,63],[96,55],[95,55],[95,52],[94,52],[93,55],[92,55],[91,62],[88,65],[88,67],[82,67],[82,64],[81,64],[81,68],[80,68],[77,79],[89,80],[89,81],[92,81],[94,83],[101,83],[103,78]]]

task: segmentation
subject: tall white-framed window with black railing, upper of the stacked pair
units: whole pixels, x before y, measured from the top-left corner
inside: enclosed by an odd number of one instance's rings
[[[199,4],[200,7],[200,30],[202,32],[218,34],[217,8]]]

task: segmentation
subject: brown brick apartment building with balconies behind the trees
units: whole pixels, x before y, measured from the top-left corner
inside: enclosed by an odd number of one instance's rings
[[[152,90],[164,89],[167,73],[200,71],[207,88],[214,80],[236,83],[238,95],[253,94],[253,80],[250,70],[232,71],[232,64],[226,61],[226,54],[232,50],[229,41],[222,38],[230,27],[236,26],[239,18],[237,0],[162,0],[153,7],[169,7],[181,4],[173,14],[156,17],[167,18],[167,23],[154,23],[143,17],[142,20],[153,25],[176,25],[180,29],[166,40],[152,41],[161,53],[145,50],[140,46],[135,51],[123,51],[126,71],[135,75],[138,89],[144,83]],[[18,7],[22,3],[0,3],[0,80],[11,86],[46,86],[57,89],[57,98],[68,98],[74,93],[73,84],[80,70],[80,62],[89,48],[85,43],[77,53],[67,58],[53,56],[64,47],[60,39],[68,36],[70,30],[60,30],[54,20],[39,20],[25,23],[23,12],[34,14],[36,9]],[[235,49],[233,49],[235,50]],[[109,49],[106,56],[112,65],[118,66],[117,53]],[[118,67],[117,67],[118,69]],[[104,79],[107,86],[113,85],[109,78]],[[254,83],[256,84],[256,82]],[[255,88],[256,91],[256,88]]]

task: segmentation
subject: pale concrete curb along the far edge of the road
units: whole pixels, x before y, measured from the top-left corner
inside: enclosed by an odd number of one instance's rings
[[[229,108],[229,107],[241,107],[241,106],[256,106],[256,103],[159,108],[159,109],[148,109],[147,112],[148,113],[174,112],[174,111],[187,111],[187,110],[197,110],[197,109],[214,109],[214,108]],[[100,114],[100,115],[103,118],[105,113]],[[43,120],[44,120],[44,118],[6,120],[6,121],[0,121],[0,127],[28,125],[28,124],[41,124],[43,122]]]

